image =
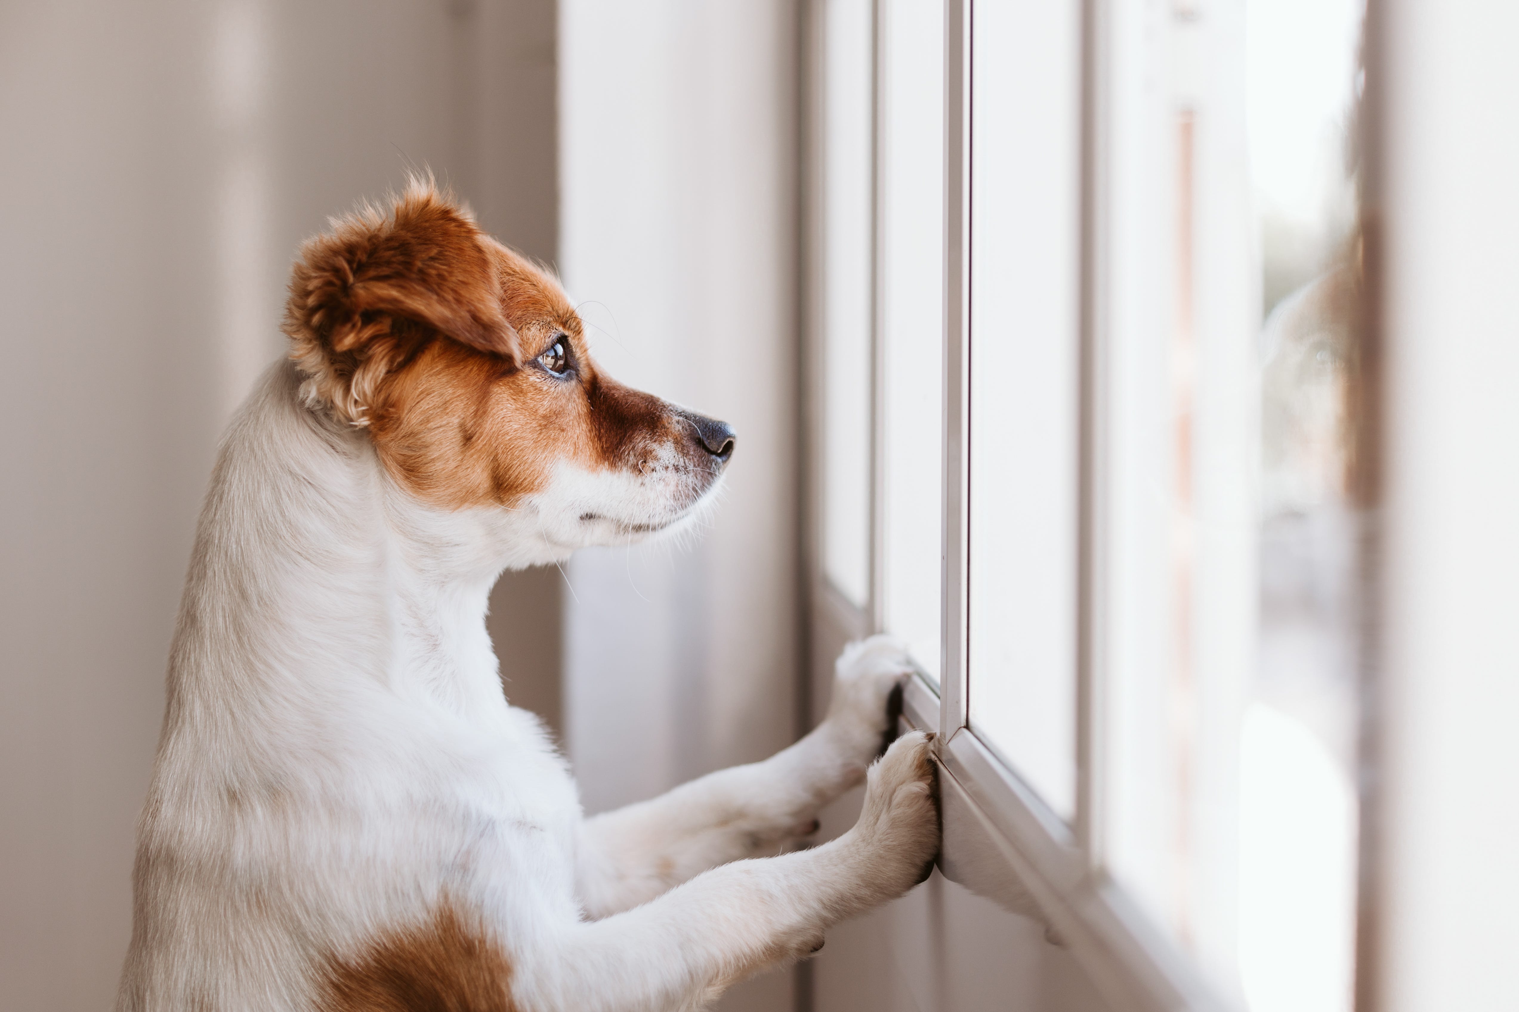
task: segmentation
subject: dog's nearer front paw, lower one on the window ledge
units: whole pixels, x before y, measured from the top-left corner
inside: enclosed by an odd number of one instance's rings
[[[899,897],[927,878],[939,854],[933,739],[908,731],[867,774],[864,809],[845,839],[873,903]]]

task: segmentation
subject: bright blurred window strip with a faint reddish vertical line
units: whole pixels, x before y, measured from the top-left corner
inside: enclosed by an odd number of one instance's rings
[[[1259,322],[1243,24],[1174,9],[1162,27],[1145,52],[1168,86],[1126,108],[1113,153],[1107,859],[1236,991]]]

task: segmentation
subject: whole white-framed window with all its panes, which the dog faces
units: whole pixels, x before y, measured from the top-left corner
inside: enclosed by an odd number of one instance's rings
[[[828,595],[1120,1007],[1349,1009],[1358,0],[822,8]]]

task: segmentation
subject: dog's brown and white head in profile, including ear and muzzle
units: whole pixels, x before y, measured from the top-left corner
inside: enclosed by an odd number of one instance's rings
[[[602,373],[557,282],[428,184],[305,243],[286,334],[307,404],[366,426],[396,484],[533,517],[550,557],[679,525],[734,452]]]

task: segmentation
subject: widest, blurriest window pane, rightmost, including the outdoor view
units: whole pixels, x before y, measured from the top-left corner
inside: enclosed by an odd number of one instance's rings
[[[1250,1012],[1350,1007],[1361,5],[1115,23],[1113,877]]]

